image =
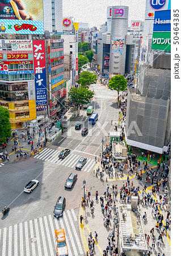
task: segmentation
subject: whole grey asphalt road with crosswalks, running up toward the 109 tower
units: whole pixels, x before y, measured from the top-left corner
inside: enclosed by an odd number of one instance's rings
[[[86,189],[92,193],[99,187],[104,191],[106,184],[95,178],[92,170],[95,155],[101,152],[102,138],[111,130],[112,122],[118,117],[116,92],[98,84],[92,85],[95,97],[91,104],[98,113],[95,125],[89,124],[86,109],[71,123],[69,130],[58,137],[39,154],[28,159],[6,163],[0,170],[0,209],[10,207],[9,214],[0,220],[0,255],[55,255],[54,229],[65,228],[69,255],[83,255],[83,246],[78,230],[78,210],[83,196],[83,179]],[[82,123],[89,128],[89,134],[82,137],[81,130],[74,125]],[[58,159],[62,148],[70,148],[70,155]],[[81,171],[74,166],[81,156],[87,163]],[[78,174],[73,189],[64,188],[71,172]],[[32,179],[39,180],[39,186],[32,193],[24,193],[24,185]],[[65,196],[66,208],[60,220],[53,217],[58,196]]]

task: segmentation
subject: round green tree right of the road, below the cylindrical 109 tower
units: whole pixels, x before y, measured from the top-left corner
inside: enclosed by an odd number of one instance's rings
[[[123,92],[127,88],[127,83],[128,81],[124,76],[113,76],[109,81],[108,88],[110,90],[117,90],[117,96],[119,97],[119,93]]]

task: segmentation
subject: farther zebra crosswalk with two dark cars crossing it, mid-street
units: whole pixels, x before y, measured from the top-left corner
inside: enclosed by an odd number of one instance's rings
[[[35,155],[34,158],[41,159],[50,163],[56,163],[60,166],[67,166],[70,168],[74,168],[75,164],[78,162],[80,155],[70,153],[66,156],[65,159],[61,160],[58,158],[58,154],[60,154],[60,150],[54,150],[52,148],[44,148],[44,150],[40,151],[39,154]],[[83,166],[82,171],[90,172],[95,165],[95,160],[87,158],[87,163]]]

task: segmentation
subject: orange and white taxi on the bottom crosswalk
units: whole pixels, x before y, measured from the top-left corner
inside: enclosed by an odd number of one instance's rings
[[[66,245],[64,229],[56,229],[54,233],[57,256],[68,256],[68,246]]]

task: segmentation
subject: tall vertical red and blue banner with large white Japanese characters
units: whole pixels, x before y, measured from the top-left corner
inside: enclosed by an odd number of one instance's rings
[[[44,40],[33,40],[33,60],[35,72],[36,105],[46,105],[47,81]]]

